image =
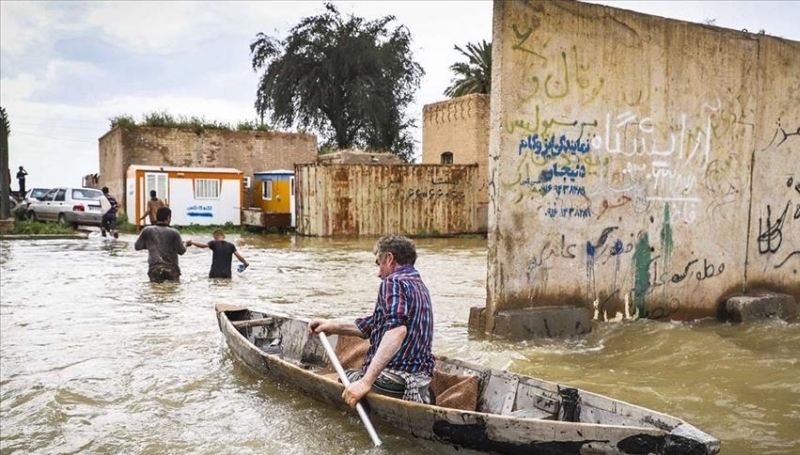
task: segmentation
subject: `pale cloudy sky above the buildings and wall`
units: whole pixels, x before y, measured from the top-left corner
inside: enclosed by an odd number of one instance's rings
[[[492,2],[333,2],[366,19],[394,15],[426,74],[408,114],[445,99],[454,45],[491,41]],[[662,17],[800,41],[800,1],[592,1]],[[0,1],[0,106],[11,124],[9,166],[27,187],[80,186],[99,170],[109,119],[168,112],[235,125],[255,120],[249,45],[284,37],[320,1]],[[418,144],[421,147],[421,144]],[[418,149],[420,154],[421,150]],[[12,189],[17,189],[16,179]]]

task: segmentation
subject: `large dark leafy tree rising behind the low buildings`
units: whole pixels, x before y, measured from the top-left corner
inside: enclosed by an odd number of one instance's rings
[[[300,20],[286,38],[259,33],[250,44],[263,74],[255,107],[276,125],[319,132],[325,145],[389,150],[413,158],[414,121],[405,109],[424,74],[413,60],[411,34],[390,28],[394,16],[343,17],[332,4]]]

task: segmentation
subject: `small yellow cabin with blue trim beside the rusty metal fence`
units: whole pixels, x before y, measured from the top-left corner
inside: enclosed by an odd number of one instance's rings
[[[294,171],[256,172],[253,203],[272,220],[267,227],[295,227]]]

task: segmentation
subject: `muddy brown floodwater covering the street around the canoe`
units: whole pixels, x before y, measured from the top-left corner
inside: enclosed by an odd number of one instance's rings
[[[381,424],[385,448],[371,449],[354,412],[257,376],[217,328],[218,302],[368,313],[374,239],[229,240],[247,271],[209,280],[211,253],[192,248],[179,284],[147,281],[132,235],[0,243],[0,453],[453,453]],[[800,324],[605,322],[575,340],[489,341],[467,334],[486,240],[417,244],[438,353],[673,414],[721,439],[722,454],[800,453]]]

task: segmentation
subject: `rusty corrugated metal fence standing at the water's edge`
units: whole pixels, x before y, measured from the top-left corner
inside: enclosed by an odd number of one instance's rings
[[[477,165],[316,163],[295,178],[300,235],[477,232]]]

